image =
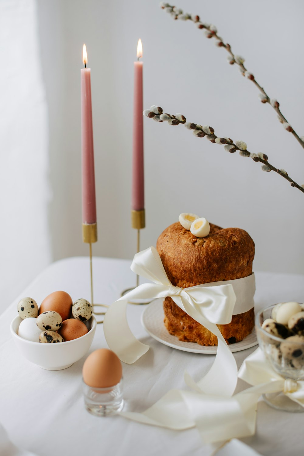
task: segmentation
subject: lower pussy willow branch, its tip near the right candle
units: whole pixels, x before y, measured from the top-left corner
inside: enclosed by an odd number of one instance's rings
[[[143,114],[149,118],[154,119],[157,122],[164,122],[167,121],[168,124],[170,125],[179,125],[179,124],[184,124],[185,127],[189,130],[193,130],[193,134],[197,136],[198,138],[203,138],[206,137],[209,141],[212,143],[217,143],[217,144],[223,144],[225,147],[225,150],[228,150],[228,152],[233,153],[236,152],[236,150],[239,150],[239,153],[243,157],[251,157],[253,161],[259,161],[262,163],[262,170],[263,171],[274,171],[278,173],[280,176],[284,177],[287,181],[290,182],[290,185],[292,187],[298,188],[301,192],[304,193],[304,184],[301,186],[297,184],[284,169],[278,169],[275,166],[271,165],[268,161],[268,156],[263,154],[262,152],[255,154],[253,152],[250,152],[247,149],[247,144],[244,143],[243,141],[236,141],[235,143],[231,138],[222,138],[220,136],[215,135],[214,130],[212,127],[208,125],[200,125],[200,124],[194,124],[192,122],[187,122],[186,117],[182,114],[167,114],[163,113],[162,108],[159,106],[153,105],[151,106],[150,109],[145,109],[143,111]]]

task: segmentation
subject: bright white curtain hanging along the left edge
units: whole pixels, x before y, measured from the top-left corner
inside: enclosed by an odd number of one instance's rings
[[[0,313],[51,260],[48,129],[35,0],[0,1]]]

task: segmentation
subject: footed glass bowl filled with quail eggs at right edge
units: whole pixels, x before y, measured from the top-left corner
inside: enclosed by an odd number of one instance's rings
[[[255,318],[258,344],[275,372],[285,379],[304,380],[304,304],[290,301],[259,311]],[[263,394],[276,409],[303,412],[285,394]]]

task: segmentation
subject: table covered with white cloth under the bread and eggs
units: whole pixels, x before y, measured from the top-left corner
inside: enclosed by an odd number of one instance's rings
[[[122,259],[93,259],[95,302],[111,304],[122,290],[135,285],[130,264]],[[257,310],[276,302],[304,301],[304,275],[256,272],[256,285]],[[20,355],[9,330],[18,301],[31,296],[39,304],[55,290],[67,291],[73,300],[90,300],[89,259],[75,257],[51,264],[0,316],[0,423],[10,440],[39,456],[51,456],[54,451],[73,456],[204,455],[207,449],[196,429],[177,432],[120,416],[89,414],[81,389],[81,370],[87,355],[61,371],[43,370]],[[199,380],[215,357],[182,352],[157,342],[141,326],[142,311],[142,306],[129,305],[128,321],[133,333],[150,346],[136,363],[123,364],[125,409],[132,411],[144,411],[169,389],[185,388],[186,368],[194,380]],[[106,346],[102,325],[97,325],[89,353]],[[255,348],[234,353],[238,368]],[[236,391],[246,386],[238,380]],[[264,456],[299,456],[304,447],[300,431],[303,425],[304,413],[280,412],[260,400],[256,435],[242,440]]]

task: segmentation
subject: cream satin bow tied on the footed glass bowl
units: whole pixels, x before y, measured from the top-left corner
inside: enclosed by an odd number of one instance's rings
[[[304,407],[304,381],[284,378],[275,372],[265,358],[263,351],[258,348],[243,361],[238,371],[238,377],[250,385],[258,386],[262,383],[265,388],[273,386],[273,393],[283,392],[289,399]],[[261,394],[268,391],[262,391]]]

